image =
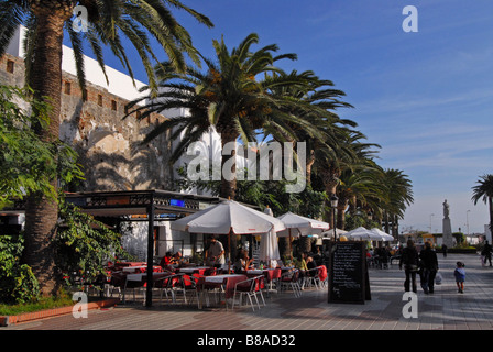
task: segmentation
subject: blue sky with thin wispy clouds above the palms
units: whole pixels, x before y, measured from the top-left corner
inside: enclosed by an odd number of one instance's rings
[[[486,206],[471,187],[493,173],[493,1],[491,0],[183,0],[213,29],[176,13],[195,46],[212,57],[211,41],[229,47],[248,34],[261,46],[296,53],[283,68],[314,70],[347,94],[354,109],[339,114],[382,146],[377,163],[404,170],[415,202],[401,230],[441,232],[442,202],[452,230],[483,232]],[[418,10],[406,33],[403,9]],[[255,48],[255,47],[253,47]],[[110,55],[107,64],[120,68]],[[135,57],[136,78],[146,81]],[[468,212],[468,210],[470,210]],[[434,216],[431,216],[434,215]]]

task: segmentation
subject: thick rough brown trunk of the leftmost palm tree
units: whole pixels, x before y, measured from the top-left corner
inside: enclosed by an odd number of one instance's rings
[[[31,64],[30,86],[37,99],[47,101],[52,107],[48,112],[48,129],[42,130],[35,127],[36,133],[44,141],[56,141],[59,135],[63,26],[72,13],[72,6],[67,3],[63,7],[61,2],[46,1],[43,4],[33,4],[37,18],[37,37],[35,57]],[[52,185],[56,187],[56,178],[52,180]],[[31,195],[28,198],[23,261],[31,266],[43,295],[53,295],[57,289],[51,241],[55,235],[57,220],[58,207],[55,200],[40,195]]]

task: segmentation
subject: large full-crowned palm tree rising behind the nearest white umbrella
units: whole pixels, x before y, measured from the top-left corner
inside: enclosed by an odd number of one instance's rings
[[[172,118],[158,124],[151,131],[144,143],[161,133],[172,131],[171,139],[182,138],[171,156],[175,163],[191,143],[198,141],[204,133],[215,127],[220,133],[222,148],[227,144],[241,139],[248,142],[256,141],[260,131],[272,134],[277,141],[295,140],[293,125],[303,125],[311,133],[316,133],[307,121],[295,117],[289,111],[316,109],[309,103],[294,97],[272,94],[280,87],[303,86],[307,79],[297,75],[282,75],[282,70],[274,64],[283,58],[294,59],[296,55],[285,54],[274,56],[278,50],[276,45],[267,45],[252,52],[251,46],[259,42],[255,33],[248,35],[238,47],[231,51],[221,41],[213,41],[216,50],[215,61],[202,57],[207,65],[205,73],[189,67],[185,74],[166,69],[167,63],[162,63],[157,69],[160,92],[150,103],[136,107],[142,111],[141,119],[154,111],[184,108],[184,116]],[[274,75],[277,74],[277,75]],[[143,97],[132,101],[129,107],[147,99]],[[234,199],[235,196],[235,151],[231,154],[231,178],[221,175],[220,196]],[[224,170],[222,157],[221,170]],[[229,162],[229,161],[228,161]],[[229,167],[229,166],[228,166]]]

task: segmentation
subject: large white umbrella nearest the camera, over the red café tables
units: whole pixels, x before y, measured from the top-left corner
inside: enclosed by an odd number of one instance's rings
[[[232,234],[266,234],[271,230],[277,232],[286,227],[281,220],[262,211],[245,207],[234,200],[224,200],[173,221],[171,228],[190,233],[228,234],[228,243],[230,243]],[[228,255],[231,258],[231,253]]]

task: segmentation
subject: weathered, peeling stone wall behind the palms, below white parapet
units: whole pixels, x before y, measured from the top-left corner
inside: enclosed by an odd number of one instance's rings
[[[8,72],[12,63],[13,73]],[[21,86],[23,82],[23,61],[9,54],[0,57],[0,84]],[[163,135],[141,144],[153,125],[165,118],[153,114],[138,120],[133,113],[122,120],[127,103],[128,100],[90,82],[84,101],[76,77],[64,73],[59,136],[78,152],[85,169],[86,180],[77,190],[169,187],[173,176],[168,140]]]

